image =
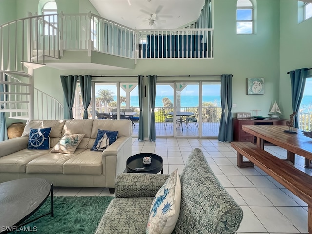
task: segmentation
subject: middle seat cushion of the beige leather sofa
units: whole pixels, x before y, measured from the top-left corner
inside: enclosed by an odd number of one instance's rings
[[[63,164],[69,159],[83,152],[83,149],[77,149],[74,154],[49,153],[30,161],[26,165],[26,173],[63,173]]]

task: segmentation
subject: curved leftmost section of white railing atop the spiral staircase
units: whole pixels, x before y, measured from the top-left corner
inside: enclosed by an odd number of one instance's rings
[[[44,65],[45,56],[59,59],[57,18],[57,14],[30,16],[0,25],[0,70],[27,72],[25,62]]]

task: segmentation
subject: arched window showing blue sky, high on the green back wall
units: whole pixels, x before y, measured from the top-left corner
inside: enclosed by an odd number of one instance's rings
[[[254,33],[254,7],[250,0],[238,0],[236,11],[237,34]]]

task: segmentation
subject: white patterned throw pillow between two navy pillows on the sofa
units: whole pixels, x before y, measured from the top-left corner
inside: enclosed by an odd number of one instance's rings
[[[65,133],[59,142],[52,148],[51,153],[74,154],[83,137],[84,134]]]

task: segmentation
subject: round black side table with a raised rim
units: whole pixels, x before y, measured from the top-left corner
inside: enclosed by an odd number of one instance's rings
[[[143,164],[143,157],[150,156],[152,162],[149,166]],[[163,174],[162,157],[153,153],[140,153],[133,155],[127,159],[127,172],[135,173],[158,173]]]

